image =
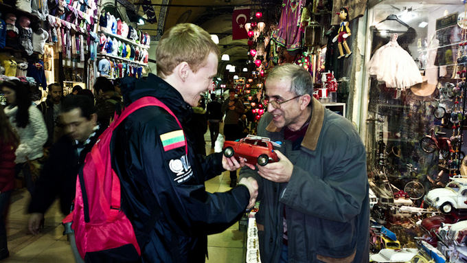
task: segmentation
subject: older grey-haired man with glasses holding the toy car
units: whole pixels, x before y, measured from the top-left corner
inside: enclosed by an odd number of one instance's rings
[[[259,185],[261,261],[368,262],[365,147],[354,125],[312,97],[302,67],[275,67],[265,86],[258,135],[282,141],[280,161],[240,171]]]

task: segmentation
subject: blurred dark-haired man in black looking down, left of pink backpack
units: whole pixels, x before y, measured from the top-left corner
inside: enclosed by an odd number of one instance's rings
[[[68,95],[61,104],[63,135],[50,149],[49,159],[36,181],[29,212],[29,229],[39,231],[44,214],[60,196],[60,210],[69,214],[75,198],[76,176],[84,158],[102,133],[93,101],[84,95]]]

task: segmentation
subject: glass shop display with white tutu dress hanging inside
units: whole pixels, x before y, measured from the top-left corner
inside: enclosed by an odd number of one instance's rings
[[[401,190],[415,180],[426,193],[459,174],[465,12],[458,0],[369,1],[362,133],[370,179],[393,178]]]

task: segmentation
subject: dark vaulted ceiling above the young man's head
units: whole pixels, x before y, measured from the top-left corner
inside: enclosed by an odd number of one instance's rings
[[[140,8],[143,0],[134,0],[138,14],[143,15]],[[234,8],[246,6],[251,10],[267,8],[268,5],[277,5],[281,0],[251,1],[251,0],[151,0],[150,6],[154,8],[157,23],[139,26],[141,30],[148,30],[149,34],[156,36],[163,34],[177,23],[194,23],[203,27],[209,34],[216,34],[219,38],[221,54],[228,54],[231,64],[243,65],[248,59],[249,48],[247,40],[232,40],[232,12]],[[225,67],[227,62],[221,62]]]

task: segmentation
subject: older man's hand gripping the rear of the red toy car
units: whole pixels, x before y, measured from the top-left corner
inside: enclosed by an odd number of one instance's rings
[[[275,183],[286,183],[291,179],[293,172],[293,163],[287,159],[282,152],[275,150],[280,161],[268,163],[264,166],[258,165],[258,174],[264,179]]]

